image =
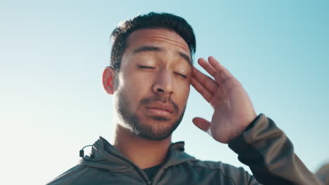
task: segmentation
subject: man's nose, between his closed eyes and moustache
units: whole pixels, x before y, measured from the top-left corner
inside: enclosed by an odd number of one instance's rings
[[[157,95],[172,95],[174,93],[172,74],[166,70],[160,71],[152,88]]]

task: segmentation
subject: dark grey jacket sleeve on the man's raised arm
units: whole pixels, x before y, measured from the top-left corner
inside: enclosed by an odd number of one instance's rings
[[[250,167],[259,183],[322,184],[295,154],[285,133],[264,114],[259,114],[228,146],[238,153],[241,163]]]

